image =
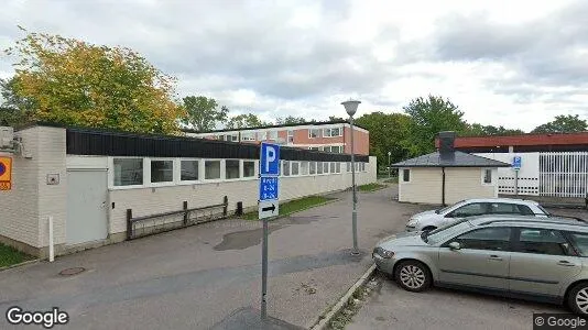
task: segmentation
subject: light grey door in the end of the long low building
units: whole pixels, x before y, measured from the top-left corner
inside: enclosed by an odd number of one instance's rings
[[[67,244],[106,239],[106,170],[67,170]]]

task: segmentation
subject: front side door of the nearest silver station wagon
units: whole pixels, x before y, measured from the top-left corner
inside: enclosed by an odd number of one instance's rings
[[[447,241],[439,248],[439,282],[508,290],[511,257],[510,228],[478,229]],[[460,250],[446,245],[458,242]]]

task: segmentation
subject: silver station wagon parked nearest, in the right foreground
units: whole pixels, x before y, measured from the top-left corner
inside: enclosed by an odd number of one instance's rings
[[[588,224],[484,216],[382,240],[372,257],[410,292],[432,285],[567,304],[588,314]]]

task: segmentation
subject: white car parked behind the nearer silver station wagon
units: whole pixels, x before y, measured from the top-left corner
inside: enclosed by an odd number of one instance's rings
[[[482,215],[549,216],[534,200],[511,198],[466,199],[443,209],[414,215],[406,223],[406,231],[434,230],[460,218]]]

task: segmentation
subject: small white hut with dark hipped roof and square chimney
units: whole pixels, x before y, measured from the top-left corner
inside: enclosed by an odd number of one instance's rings
[[[439,150],[393,164],[399,168],[399,201],[447,205],[498,197],[498,167],[510,164],[454,148],[455,132],[439,133]]]

